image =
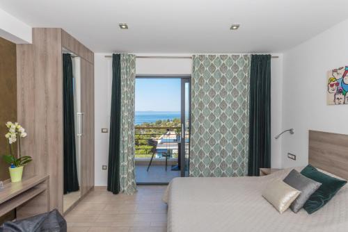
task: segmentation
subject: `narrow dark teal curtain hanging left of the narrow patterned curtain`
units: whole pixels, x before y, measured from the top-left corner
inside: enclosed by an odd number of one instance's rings
[[[121,64],[120,54],[112,56],[111,117],[109,135],[109,169],[107,190],[120,192],[120,118],[121,118]]]

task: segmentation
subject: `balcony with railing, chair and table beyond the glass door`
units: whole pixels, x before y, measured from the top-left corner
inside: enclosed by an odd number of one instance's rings
[[[137,183],[168,183],[180,176],[180,167],[177,166],[180,133],[180,127],[135,126]]]

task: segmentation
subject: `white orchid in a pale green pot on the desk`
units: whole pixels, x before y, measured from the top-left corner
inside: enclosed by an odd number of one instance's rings
[[[5,138],[8,140],[10,154],[3,155],[3,159],[10,165],[8,169],[10,171],[11,181],[22,181],[23,167],[32,160],[31,156],[21,156],[20,140],[21,138],[25,138],[27,134],[25,132],[25,129],[17,122],[7,122],[6,126],[8,128],[8,133],[6,133]],[[17,141],[18,153],[15,156],[13,151],[13,144]]]

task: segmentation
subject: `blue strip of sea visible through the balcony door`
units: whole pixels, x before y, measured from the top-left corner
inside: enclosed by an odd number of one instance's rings
[[[136,111],[134,122],[140,125],[143,122],[156,122],[158,120],[180,119],[180,111]]]

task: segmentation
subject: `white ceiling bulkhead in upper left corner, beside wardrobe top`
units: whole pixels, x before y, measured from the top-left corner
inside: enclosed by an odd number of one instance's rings
[[[0,37],[15,44],[31,43],[31,26],[0,9]]]

